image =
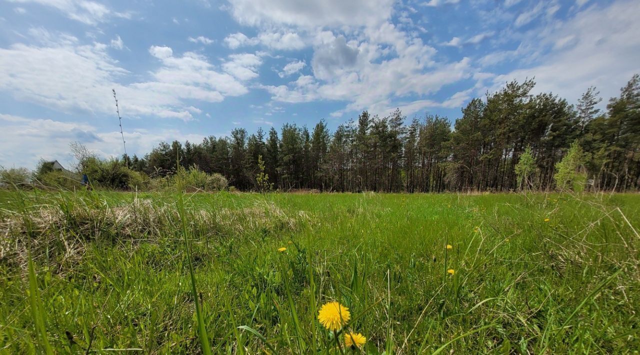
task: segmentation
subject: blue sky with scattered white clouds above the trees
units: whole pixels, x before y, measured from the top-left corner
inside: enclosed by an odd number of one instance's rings
[[[474,97],[604,98],[640,72],[637,0],[0,0],[0,166],[70,164],[368,110],[459,118]]]

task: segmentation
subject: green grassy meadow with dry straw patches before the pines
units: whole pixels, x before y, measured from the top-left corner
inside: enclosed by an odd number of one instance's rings
[[[638,194],[4,192],[0,352],[637,354],[638,231]]]

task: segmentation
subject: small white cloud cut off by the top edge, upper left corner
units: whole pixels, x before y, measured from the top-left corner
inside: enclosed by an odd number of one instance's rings
[[[129,12],[115,12],[105,6],[90,0],[8,0],[12,3],[37,3],[51,6],[65,13],[69,19],[77,20],[88,25],[106,22],[113,17],[131,19]]]

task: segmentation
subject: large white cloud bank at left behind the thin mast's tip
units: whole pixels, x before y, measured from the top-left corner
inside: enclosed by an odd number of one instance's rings
[[[191,105],[185,100],[220,102],[248,92],[234,76],[217,71],[207,58],[193,52],[175,56],[170,47],[152,46],[149,52],[159,68],[148,74],[148,80],[133,81],[131,73],[109,56],[108,45],[83,45],[73,36],[42,30],[33,33],[42,36],[42,45],[0,48],[0,91],[17,100],[61,111],[110,114],[115,88],[125,115],[189,120],[186,107]]]

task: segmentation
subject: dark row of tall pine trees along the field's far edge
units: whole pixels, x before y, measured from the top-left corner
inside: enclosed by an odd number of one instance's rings
[[[311,130],[289,123],[253,134],[237,128],[230,137],[162,142],[144,157],[124,159],[151,177],[196,166],[241,190],[548,190],[557,187],[559,162],[573,145],[579,154],[572,169],[584,172],[589,188],[640,187],[640,75],[604,111],[593,87],[573,106],[552,93],[532,94],[534,85],[511,81],[472,99],[453,125],[431,114],[407,125],[399,109],[385,117],[364,111],[334,132],[324,120]]]

